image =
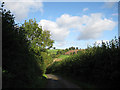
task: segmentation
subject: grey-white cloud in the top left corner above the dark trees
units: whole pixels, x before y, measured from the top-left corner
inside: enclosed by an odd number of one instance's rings
[[[36,2],[36,0],[3,0],[5,1],[5,8],[10,10],[17,21],[23,20],[29,14],[29,12],[40,11],[43,12],[42,2]]]

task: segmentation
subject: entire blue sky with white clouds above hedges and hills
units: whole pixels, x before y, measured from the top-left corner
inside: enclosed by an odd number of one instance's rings
[[[118,2],[4,1],[16,23],[35,18],[43,30],[50,31],[56,49],[85,49],[118,37]]]

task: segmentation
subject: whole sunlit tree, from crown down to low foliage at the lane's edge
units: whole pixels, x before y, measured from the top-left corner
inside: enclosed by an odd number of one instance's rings
[[[50,32],[42,30],[36,20],[30,19],[22,25],[26,39],[30,42],[31,50],[34,51],[37,62],[41,67],[42,74],[46,71],[46,66],[51,62],[51,57],[47,55],[47,48],[53,46],[53,40],[50,38]],[[41,53],[42,52],[42,53]],[[48,62],[48,63],[47,63]]]

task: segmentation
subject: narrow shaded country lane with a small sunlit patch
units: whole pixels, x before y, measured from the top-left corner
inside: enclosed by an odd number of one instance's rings
[[[79,86],[67,80],[64,80],[60,76],[52,75],[52,74],[46,74],[46,75],[48,77],[46,88],[80,88]]]

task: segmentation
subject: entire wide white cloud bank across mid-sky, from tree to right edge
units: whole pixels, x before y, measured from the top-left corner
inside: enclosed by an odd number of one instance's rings
[[[103,18],[101,13],[92,13],[90,16],[70,16],[63,14],[56,21],[41,20],[39,25],[43,29],[49,30],[52,38],[56,41],[64,41],[72,30],[80,33],[78,40],[96,39],[105,30],[113,30],[116,22]]]

